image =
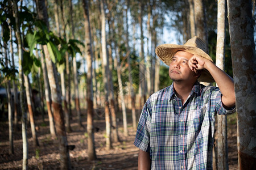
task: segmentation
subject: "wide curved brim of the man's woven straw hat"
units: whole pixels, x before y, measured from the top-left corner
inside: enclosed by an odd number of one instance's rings
[[[205,53],[200,48],[197,48],[194,46],[162,44],[156,47],[155,53],[167,66],[170,66],[170,63],[172,62],[172,57],[174,57],[174,54],[179,50],[185,51],[191,54],[196,54],[198,56],[209,59],[210,61],[213,62],[212,58],[210,58],[210,56],[207,53]],[[208,83],[215,82],[212,75],[210,75],[209,71],[206,69],[204,69],[201,72],[201,75],[198,78],[198,80],[199,82],[208,82]]]

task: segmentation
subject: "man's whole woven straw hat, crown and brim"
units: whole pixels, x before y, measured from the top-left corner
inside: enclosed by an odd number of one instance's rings
[[[207,46],[203,40],[195,36],[189,39],[184,45],[176,44],[162,44],[156,47],[156,55],[167,65],[170,66],[172,57],[178,51],[182,50],[191,54],[197,54],[198,56],[204,57],[212,61],[212,58],[207,54]],[[199,82],[215,82],[209,71],[204,69],[198,78]]]

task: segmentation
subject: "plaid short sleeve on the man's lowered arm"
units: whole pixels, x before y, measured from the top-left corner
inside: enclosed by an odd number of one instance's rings
[[[134,141],[134,145],[145,152],[149,152],[150,149],[150,112],[151,111],[148,109],[146,103],[142,109],[141,117],[139,118],[137,133]]]

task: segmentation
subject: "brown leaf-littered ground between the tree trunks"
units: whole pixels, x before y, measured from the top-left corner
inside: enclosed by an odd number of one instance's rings
[[[121,120],[121,114],[118,114]],[[67,133],[68,145],[75,145],[69,150],[73,169],[137,169],[138,148],[133,145],[136,131],[131,124],[131,114],[128,111],[129,136],[123,135],[122,121],[118,122],[120,142],[113,143],[112,150],[105,148],[105,118],[100,114],[95,116],[94,126],[98,131],[94,133],[97,160],[88,161],[86,112],[82,110],[82,125],[85,129],[78,129],[75,113],[71,121],[72,132]],[[47,117],[47,116],[45,116]],[[28,124],[28,169],[60,169],[60,155],[56,139],[49,134],[48,119],[42,121],[42,116],[35,117],[38,129],[39,147],[34,148]],[[21,127],[21,125],[19,124]],[[0,169],[22,169],[22,132],[14,133],[14,154],[9,154],[8,122],[0,118]],[[237,158],[237,124],[236,114],[228,116],[228,149],[229,169],[238,169]]]

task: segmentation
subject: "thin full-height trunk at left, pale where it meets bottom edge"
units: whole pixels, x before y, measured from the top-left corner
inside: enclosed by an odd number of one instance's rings
[[[19,85],[20,85],[20,105],[22,112],[22,144],[23,144],[23,160],[22,160],[22,169],[27,169],[27,160],[28,160],[28,141],[27,141],[27,112],[25,109],[25,100],[24,100],[24,79],[23,79],[23,50],[22,50],[22,37],[20,33],[20,23],[19,23],[19,11],[17,1],[13,1],[13,16],[15,18],[16,26],[16,39],[18,41],[18,56],[19,56]]]

